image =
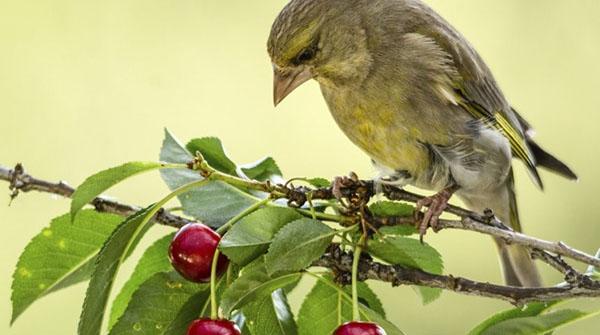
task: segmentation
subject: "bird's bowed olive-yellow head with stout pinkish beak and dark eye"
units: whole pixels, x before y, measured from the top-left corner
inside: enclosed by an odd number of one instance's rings
[[[277,105],[310,79],[321,85],[360,84],[371,57],[360,0],[292,0],[281,11],[268,41]]]

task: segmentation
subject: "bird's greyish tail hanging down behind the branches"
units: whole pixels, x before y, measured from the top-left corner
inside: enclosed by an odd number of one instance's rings
[[[505,224],[510,225],[515,231],[521,231],[517,199],[514,191],[513,173],[497,192],[488,195],[470,197],[461,195],[468,207],[474,211],[482,212],[491,208],[496,216]],[[540,287],[542,280],[529,251],[514,244],[507,244],[503,240],[495,239],[500,256],[500,265],[507,285],[521,287]]]

